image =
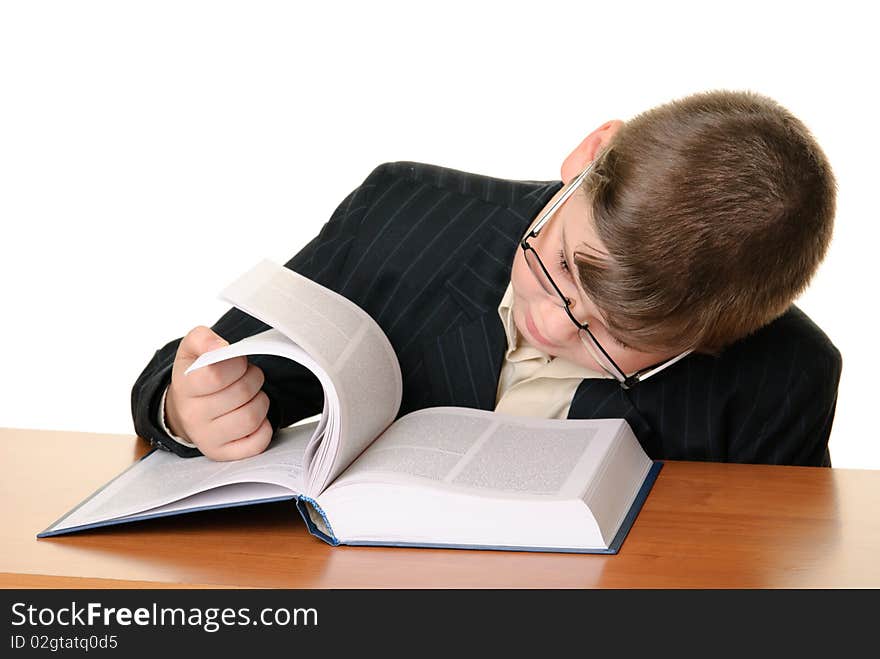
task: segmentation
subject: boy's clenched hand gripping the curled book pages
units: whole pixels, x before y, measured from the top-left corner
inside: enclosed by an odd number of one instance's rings
[[[171,369],[165,414],[169,429],[207,457],[238,460],[261,453],[272,439],[262,369],[242,356],[183,374],[199,355],[224,345],[228,342],[204,325],[183,337]]]

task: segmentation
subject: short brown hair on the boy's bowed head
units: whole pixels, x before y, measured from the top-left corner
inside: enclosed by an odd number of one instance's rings
[[[825,154],[753,92],[694,94],[636,116],[583,190],[608,257],[576,252],[581,283],[609,331],[645,351],[717,354],[781,315],[834,222]]]

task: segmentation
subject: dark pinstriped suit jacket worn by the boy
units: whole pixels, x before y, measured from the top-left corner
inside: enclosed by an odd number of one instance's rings
[[[412,162],[377,167],[286,265],[338,291],[382,327],[400,360],[400,415],[459,405],[491,410],[507,339],[498,304],[517,241],[561,182],[509,181]],[[267,329],[230,309],[230,342]],[[137,433],[183,456],[156,426],[180,339],[158,350],[132,389]],[[317,414],[314,376],[278,357],[265,375],[273,428]],[[720,357],[691,354],[624,391],[586,379],[569,418],[622,417],[652,458],[830,466],[841,357],[797,307]]]

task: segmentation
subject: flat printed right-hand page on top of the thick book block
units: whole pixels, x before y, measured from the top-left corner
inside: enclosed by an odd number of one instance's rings
[[[619,420],[537,419],[429,408],[398,419],[328,488],[355,481],[434,481],[474,492],[580,496]]]

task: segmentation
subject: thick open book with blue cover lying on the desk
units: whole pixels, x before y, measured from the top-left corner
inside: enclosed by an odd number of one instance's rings
[[[272,329],[200,356],[292,359],[320,380],[317,421],[234,462],[154,450],[37,537],[283,499],[331,545],[616,553],[662,463],[623,419],[538,419],[463,407],[395,421],[400,366],[341,295],[263,261],[221,298]]]

